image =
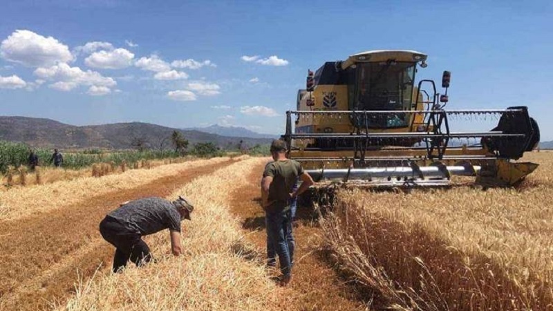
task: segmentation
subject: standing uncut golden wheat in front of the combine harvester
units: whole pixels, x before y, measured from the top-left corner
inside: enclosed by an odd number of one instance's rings
[[[519,189],[348,191],[328,247],[376,301],[398,310],[553,308],[553,153]]]

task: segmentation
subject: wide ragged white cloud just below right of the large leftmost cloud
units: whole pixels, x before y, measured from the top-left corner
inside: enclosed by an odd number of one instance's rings
[[[104,77],[92,70],[83,71],[79,67],[71,67],[68,64],[37,68],[34,74],[41,79],[55,81],[55,83],[50,84],[50,88],[59,91],[71,91],[79,85],[106,86],[108,88],[117,85],[117,82],[111,77]]]

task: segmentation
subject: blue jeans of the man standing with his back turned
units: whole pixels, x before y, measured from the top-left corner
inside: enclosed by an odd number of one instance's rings
[[[281,272],[290,276],[294,261],[294,236],[292,234],[292,211],[274,211],[265,213],[267,227],[268,265],[276,265],[275,256],[279,256]]]

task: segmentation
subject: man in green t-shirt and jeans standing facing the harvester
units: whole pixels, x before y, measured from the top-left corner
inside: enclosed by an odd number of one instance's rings
[[[290,201],[313,185],[311,176],[303,171],[301,164],[286,158],[286,149],[286,143],[283,140],[272,142],[270,151],[274,161],[265,166],[261,180],[261,200],[265,209],[268,242],[272,242],[279,256],[283,286],[288,285],[292,279],[295,246]],[[298,178],[302,182],[301,186],[290,193]],[[269,259],[271,248],[268,243]]]

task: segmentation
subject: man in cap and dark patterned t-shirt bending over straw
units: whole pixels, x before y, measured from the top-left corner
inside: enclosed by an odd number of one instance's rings
[[[173,202],[163,198],[142,198],[124,202],[107,214],[100,223],[100,234],[115,246],[113,272],[119,272],[129,259],[139,266],[151,261],[148,245],[142,236],[169,229],[171,250],[175,256],[182,252],[180,221],[190,220],[194,206],[179,196]]]

